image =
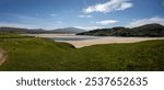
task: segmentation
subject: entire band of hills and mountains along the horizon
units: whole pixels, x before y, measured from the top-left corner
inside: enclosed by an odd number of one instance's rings
[[[84,31],[77,27],[66,27],[57,30],[28,30],[17,27],[0,27],[0,33],[20,33],[20,34],[77,34],[77,35],[94,35],[94,36],[141,36],[141,37],[164,37],[164,26],[161,24],[145,24],[138,27],[117,26],[113,29],[97,29],[93,31]]]

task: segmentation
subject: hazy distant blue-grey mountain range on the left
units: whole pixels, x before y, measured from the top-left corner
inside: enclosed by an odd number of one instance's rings
[[[28,30],[28,29],[19,29],[19,27],[0,27],[0,33],[20,33],[20,34],[49,34],[49,33],[60,33],[60,34],[77,34],[85,32],[84,30],[77,27],[66,27],[66,29],[57,29],[57,30]]]

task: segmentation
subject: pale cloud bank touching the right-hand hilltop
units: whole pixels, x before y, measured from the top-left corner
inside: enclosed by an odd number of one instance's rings
[[[142,20],[136,20],[128,24],[128,27],[136,27],[144,24],[151,24],[151,23],[159,23],[164,25],[164,18],[151,18],[151,19],[142,19]]]

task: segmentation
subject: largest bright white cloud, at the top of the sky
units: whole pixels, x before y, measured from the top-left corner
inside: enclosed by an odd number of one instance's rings
[[[85,13],[92,12],[113,12],[113,11],[122,11],[133,7],[130,0],[109,0],[105,3],[98,3],[96,5],[91,5],[83,11]]]

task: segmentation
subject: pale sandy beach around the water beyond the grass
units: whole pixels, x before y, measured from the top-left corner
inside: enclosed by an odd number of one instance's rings
[[[164,37],[115,37],[115,36],[81,36],[74,34],[31,34],[36,37],[95,37],[94,40],[84,40],[84,41],[57,41],[66,42],[74,45],[77,48],[91,46],[96,44],[114,44],[114,43],[137,43],[150,40],[164,40]]]

